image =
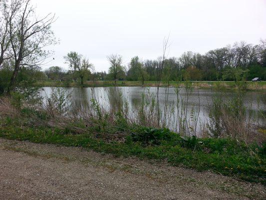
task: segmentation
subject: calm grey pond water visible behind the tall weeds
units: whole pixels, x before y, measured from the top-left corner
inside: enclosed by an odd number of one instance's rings
[[[151,106],[152,100],[157,102],[157,87],[65,87],[65,89],[71,93],[71,104],[73,108],[88,108],[92,98],[96,99],[106,110],[114,109],[122,101],[126,101],[128,114],[132,118],[139,117],[138,113],[142,102],[145,102],[146,105],[144,109],[148,109]],[[52,87],[43,87],[41,93],[43,96],[49,96],[51,90]],[[188,128],[195,126],[194,128],[199,130],[209,120],[209,108],[212,106],[213,97],[217,95],[217,91],[212,89],[193,89],[192,91],[186,91],[185,88],[180,88],[177,97],[175,88],[160,87],[158,94],[159,106],[162,112],[161,123],[165,123],[167,127],[177,131],[177,119],[182,115],[183,118],[186,116],[188,121],[190,121],[191,127]],[[222,93],[222,97],[228,101],[232,100],[234,95],[235,92],[233,91],[224,91]],[[177,106],[177,99],[179,99],[179,106]],[[265,93],[246,92],[244,105],[247,108],[250,120],[253,120],[257,125],[266,126],[266,120],[264,118],[266,115]],[[264,113],[264,116],[262,113]],[[150,118],[153,117],[156,116],[150,116]]]

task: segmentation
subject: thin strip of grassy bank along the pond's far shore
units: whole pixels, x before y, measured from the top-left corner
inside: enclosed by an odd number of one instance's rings
[[[213,89],[235,89],[237,83],[235,81],[192,81],[194,86],[199,88],[213,88]],[[170,86],[180,85],[180,82],[170,81]],[[80,86],[78,82],[69,81],[53,81],[53,80],[43,80],[35,83],[36,86],[47,86],[47,87],[77,87]],[[165,83],[162,81],[161,86]],[[182,82],[181,82],[182,85]],[[145,81],[142,85],[141,81],[125,81],[119,80],[114,84],[114,81],[85,81],[84,87],[106,87],[106,86],[156,86],[156,81]],[[252,82],[246,81],[247,90],[266,90],[266,81]]]

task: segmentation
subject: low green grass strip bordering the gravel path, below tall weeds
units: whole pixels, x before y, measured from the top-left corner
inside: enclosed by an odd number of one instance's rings
[[[95,132],[91,126],[83,133],[68,127],[30,125],[32,118],[1,118],[0,137],[53,143],[65,146],[82,146],[117,156],[137,156],[142,159],[167,160],[172,165],[194,168],[199,171],[238,177],[266,184],[266,146],[246,144],[231,138],[181,137],[168,129],[130,126],[131,133]],[[80,123],[81,124],[81,123]]]

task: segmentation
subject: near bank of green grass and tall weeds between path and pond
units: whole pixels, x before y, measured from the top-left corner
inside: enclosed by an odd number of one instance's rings
[[[209,107],[210,120],[201,124],[203,129],[197,132],[197,112],[188,110],[186,104],[191,85],[187,82],[183,96],[175,88],[177,99],[182,97],[176,105],[180,111],[176,122],[172,121],[176,123],[175,132],[166,128],[167,117],[175,113],[171,107],[167,109],[167,101],[162,110],[162,104],[153,95],[143,94],[131,116],[128,101],[120,93],[109,96],[110,108],[101,105],[97,98],[82,107],[72,106],[67,89],[57,87],[45,99],[36,94],[38,88],[31,88],[35,92],[30,95],[14,92],[0,98],[0,137],[167,160],[172,165],[266,185],[265,127],[259,134],[258,126],[246,117],[242,92],[236,92],[229,101],[219,98],[223,93],[217,95]],[[221,88],[221,84],[217,86]],[[260,137],[258,143],[255,137]]]

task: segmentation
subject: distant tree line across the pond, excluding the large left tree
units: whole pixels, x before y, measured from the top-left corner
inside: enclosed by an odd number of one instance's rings
[[[78,74],[81,83],[85,80],[158,80],[158,68],[162,58],[142,60],[139,56],[131,58],[128,64],[123,63],[123,58],[118,54],[107,56],[110,64],[108,72],[95,72],[93,64],[88,67],[73,68],[70,60],[80,60],[77,52],[69,52],[64,56],[69,70],[59,66],[51,66],[44,72],[47,79],[74,79]],[[75,64],[74,64],[75,65]],[[260,44],[248,44],[245,41],[235,42],[223,48],[210,50],[205,54],[192,51],[184,52],[180,57],[164,59],[161,70],[162,80],[177,80],[178,78],[190,80],[235,80],[236,75],[245,80],[261,77],[266,80],[266,40]]]

